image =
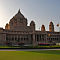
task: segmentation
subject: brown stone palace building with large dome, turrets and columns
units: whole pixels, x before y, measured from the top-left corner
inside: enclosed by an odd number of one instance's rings
[[[0,45],[33,45],[39,43],[60,43],[60,32],[54,31],[54,24],[50,22],[49,31],[42,25],[41,31],[35,30],[35,22],[27,25],[27,18],[18,11],[6,24],[5,29],[0,28]]]

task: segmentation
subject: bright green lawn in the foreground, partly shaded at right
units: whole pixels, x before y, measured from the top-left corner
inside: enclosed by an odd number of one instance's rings
[[[0,51],[0,60],[60,60],[60,51]]]

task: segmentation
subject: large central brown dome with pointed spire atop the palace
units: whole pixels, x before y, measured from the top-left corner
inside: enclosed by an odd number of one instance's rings
[[[20,9],[18,10],[18,13],[15,16],[13,16],[13,18],[10,20],[9,25],[10,25],[10,29],[27,26],[27,19],[20,12]]]

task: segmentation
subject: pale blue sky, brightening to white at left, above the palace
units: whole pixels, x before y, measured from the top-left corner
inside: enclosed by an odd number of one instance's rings
[[[49,30],[52,21],[55,31],[59,31],[56,25],[60,23],[60,0],[0,0],[0,27],[5,28],[19,9],[28,19],[28,25],[35,21],[37,30],[41,30],[42,24]]]

